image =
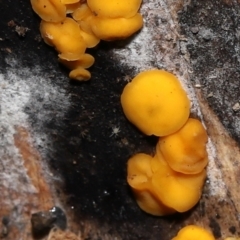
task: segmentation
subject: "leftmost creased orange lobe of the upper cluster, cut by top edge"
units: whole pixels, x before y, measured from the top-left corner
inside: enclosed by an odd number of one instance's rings
[[[47,22],[60,22],[66,17],[66,6],[61,0],[31,0],[33,10]]]

